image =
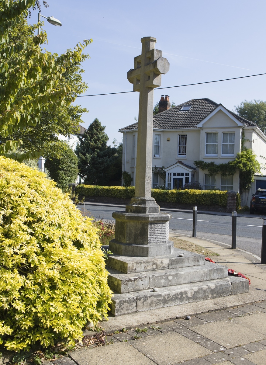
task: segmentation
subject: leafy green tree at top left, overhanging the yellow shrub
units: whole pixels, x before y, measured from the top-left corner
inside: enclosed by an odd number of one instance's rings
[[[43,51],[46,32],[34,35],[38,26],[26,20],[37,2],[0,2],[0,153],[7,155],[24,142],[28,151],[12,155],[20,161],[38,158],[46,149],[51,153],[55,134],[69,134],[85,111],[70,104],[86,89],[79,65],[88,57],[82,51],[92,40],[59,56]]]

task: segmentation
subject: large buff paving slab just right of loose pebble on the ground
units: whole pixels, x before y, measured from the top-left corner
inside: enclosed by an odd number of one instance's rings
[[[219,343],[225,348],[231,348],[246,343],[265,339],[265,335],[249,329],[239,323],[221,320],[219,322],[206,323],[201,326],[193,327],[193,331],[200,335],[209,338],[210,340]]]

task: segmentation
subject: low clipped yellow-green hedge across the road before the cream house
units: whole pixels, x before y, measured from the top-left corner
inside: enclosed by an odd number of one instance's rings
[[[76,192],[80,196],[105,196],[122,199],[130,199],[135,194],[135,187],[123,186],[98,186],[98,185],[78,185]],[[196,205],[219,205],[226,207],[227,194],[220,190],[160,190],[151,189],[151,196],[156,201],[166,203],[182,203]],[[240,195],[236,196],[236,208],[240,207]]]

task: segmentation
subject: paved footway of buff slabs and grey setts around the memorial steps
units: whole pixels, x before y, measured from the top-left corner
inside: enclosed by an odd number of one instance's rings
[[[218,253],[214,261],[250,278],[249,293],[109,317],[100,323],[107,345],[81,346],[55,365],[266,365],[266,265],[243,250],[170,236]]]

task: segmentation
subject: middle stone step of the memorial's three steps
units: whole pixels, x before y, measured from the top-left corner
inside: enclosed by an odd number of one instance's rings
[[[155,270],[141,273],[124,274],[121,271],[106,268],[109,272],[108,285],[116,293],[129,293],[145,289],[168,287],[220,279],[228,276],[226,266],[205,262],[205,265],[185,268]]]

